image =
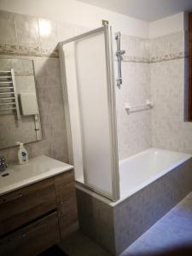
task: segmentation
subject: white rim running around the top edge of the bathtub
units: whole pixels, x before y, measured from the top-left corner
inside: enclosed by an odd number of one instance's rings
[[[161,148],[148,148],[146,150],[143,150],[142,152],[131,155],[128,158],[133,159],[133,158],[136,158],[138,155],[144,154],[147,151],[152,151],[152,150],[160,150],[160,151],[164,151],[164,152],[167,151],[167,152],[173,153],[173,154],[176,154],[176,153],[177,154],[183,154],[183,156],[185,156],[185,157],[183,158],[183,160],[180,160],[176,164],[173,164],[172,166],[169,166],[164,171],[157,173],[156,175],[154,175],[154,177],[148,178],[147,181],[143,182],[141,185],[137,186],[135,189],[132,189],[130,191],[129,195],[122,196],[118,201],[110,201],[107,198],[102,197],[102,195],[97,195],[95,192],[84,188],[84,186],[81,185],[81,183],[75,183],[75,188],[84,191],[85,193],[95,197],[96,199],[98,199],[100,201],[103,201],[104,203],[108,204],[108,206],[110,206],[110,207],[115,207],[115,206],[119,205],[119,203],[121,203],[121,202],[125,201],[126,199],[130,198],[132,195],[135,195],[138,191],[147,187],[150,183],[154,183],[154,181],[158,180],[160,177],[165,176],[168,172],[171,172],[173,169],[177,168],[178,166],[182,166],[184,163],[186,163],[188,160],[190,160],[192,158],[192,154],[185,154],[185,153],[182,153],[182,152],[177,152],[177,151],[172,151],[172,150],[167,150],[167,149],[161,149]],[[128,158],[126,158],[124,160],[119,160],[119,163],[125,162]],[[119,168],[119,170],[120,170],[120,168]]]

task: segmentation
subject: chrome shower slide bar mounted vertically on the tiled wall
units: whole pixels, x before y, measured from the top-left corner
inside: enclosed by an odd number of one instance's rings
[[[120,32],[115,33],[115,40],[117,41],[117,51],[115,55],[117,56],[118,61],[118,78],[116,79],[117,85],[120,86],[122,84],[122,73],[121,73],[121,61],[123,60],[123,55],[125,54],[125,50],[120,49]]]

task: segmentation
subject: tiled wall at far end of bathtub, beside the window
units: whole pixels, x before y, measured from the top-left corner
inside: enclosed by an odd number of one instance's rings
[[[192,123],[185,122],[187,35],[178,32],[151,41],[152,144],[192,154]]]

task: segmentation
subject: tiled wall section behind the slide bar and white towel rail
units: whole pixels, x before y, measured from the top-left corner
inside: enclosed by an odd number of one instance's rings
[[[151,110],[128,113],[125,102],[141,105],[150,100],[149,40],[122,35],[125,49],[123,84],[116,87],[119,159],[151,147]],[[115,61],[114,66],[117,66]]]

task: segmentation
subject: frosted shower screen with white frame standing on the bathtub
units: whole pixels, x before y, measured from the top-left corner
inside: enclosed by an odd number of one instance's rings
[[[75,180],[119,199],[119,160],[108,26],[60,43],[70,162]]]

